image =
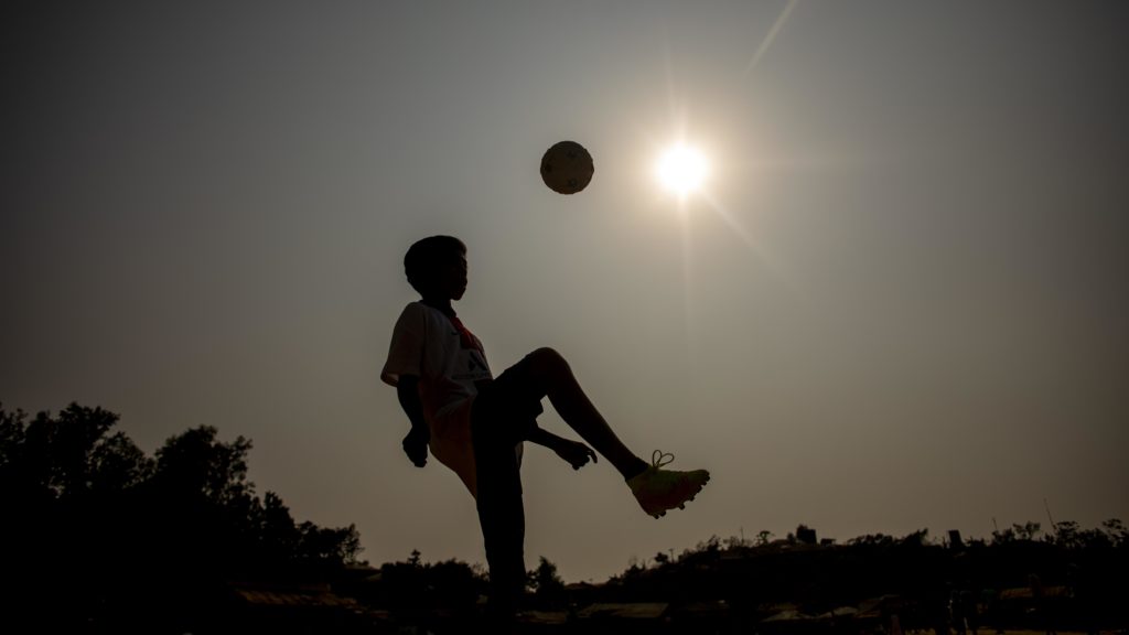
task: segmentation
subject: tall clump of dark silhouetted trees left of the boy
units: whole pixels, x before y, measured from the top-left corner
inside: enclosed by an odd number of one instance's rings
[[[117,415],[0,405],[0,602],[6,620],[86,626],[151,614],[191,626],[233,580],[301,580],[357,563],[353,525],[296,522],[247,479],[251,441],[201,426],[152,456]],[[76,623],[76,624],[69,624]],[[143,619],[140,621],[143,623]]]

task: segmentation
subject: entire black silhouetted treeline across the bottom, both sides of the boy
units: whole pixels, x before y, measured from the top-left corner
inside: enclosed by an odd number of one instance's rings
[[[247,478],[250,440],[225,442],[201,426],[150,456],[117,421],[73,403],[34,417],[0,405],[0,630],[203,632],[225,624],[233,584],[248,582],[332,580],[335,592],[405,624],[475,615],[487,586],[481,566],[426,564],[413,553],[378,575],[339,575],[361,564],[356,528],[297,522],[278,494],[260,497]],[[1054,626],[1095,630],[1129,623],[1126,572],[1129,530],[1118,520],[1096,529],[1059,522],[1045,532],[1029,522],[987,539],[921,530],[842,543],[799,525],[779,540],[762,531],[753,540],[714,537],[677,557],[659,553],[595,586],[566,586],[541,558],[527,606],[725,607],[725,624],[739,630],[782,606],[820,615],[895,595],[904,627],[942,630],[956,598],[973,598],[986,627],[1034,627],[1023,621],[1036,615],[1032,604],[1004,600],[1008,590],[1029,589],[1030,599],[1038,589],[1056,598]]]

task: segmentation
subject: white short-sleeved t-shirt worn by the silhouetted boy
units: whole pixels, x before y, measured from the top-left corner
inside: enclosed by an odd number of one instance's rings
[[[388,359],[380,380],[396,385],[401,375],[419,377],[423,419],[431,430],[429,446],[438,461],[458,475],[475,494],[474,446],[471,443],[471,405],[474,382],[492,379],[482,342],[438,308],[422,302],[404,307],[392,331]]]

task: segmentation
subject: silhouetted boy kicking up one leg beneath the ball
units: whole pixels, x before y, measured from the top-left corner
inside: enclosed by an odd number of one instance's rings
[[[458,238],[417,242],[404,256],[404,271],[421,299],[400,315],[380,379],[396,388],[411,421],[403,441],[408,458],[422,468],[430,447],[475,497],[496,618],[511,619],[525,585],[523,441],[552,450],[574,469],[596,462],[598,452],[655,517],[681,508],[709,480],[706,470],[663,469],[669,454],[656,451],[648,466],[628,450],[552,349],[535,350],[493,377],[482,342],[452,307],[466,292],[466,246]],[[544,397],[587,444],[537,426]]]

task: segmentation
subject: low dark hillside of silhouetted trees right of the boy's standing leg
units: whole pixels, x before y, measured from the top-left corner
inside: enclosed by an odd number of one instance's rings
[[[814,530],[799,525],[780,540],[769,532],[755,541],[712,537],[677,558],[659,553],[615,576],[603,599],[721,600],[735,621],[750,625],[782,606],[815,616],[896,597],[907,611],[903,627],[940,633],[955,607],[971,598],[981,624],[992,628],[1094,632],[1129,624],[1127,572],[1129,530],[1117,519],[1096,529],[1059,522],[1047,533],[1027,522],[988,539],[965,540],[955,532],[934,539],[922,529],[844,543],[816,540]],[[1053,598],[1047,600],[1053,607],[1049,618],[1036,611],[1043,594]]]

